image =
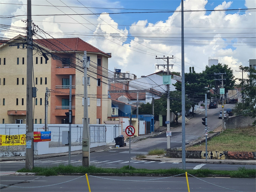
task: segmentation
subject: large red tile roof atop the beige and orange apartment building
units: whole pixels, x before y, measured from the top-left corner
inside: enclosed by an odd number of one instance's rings
[[[103,53],[104,55],[110,57],[110,55],[108,55],[107,53],[104,53],[103,51],[90,45],[89,43],[83,41],[78,37],[56,39],[33,39],[33,41],[52,51],[88,51]]]

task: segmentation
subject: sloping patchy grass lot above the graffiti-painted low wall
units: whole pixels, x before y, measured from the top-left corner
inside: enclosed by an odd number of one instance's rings
[[[188,151],[204,151],[205,144],[186,147]],[[256,128],[226,129],[207,141],[208,151],[256,151]]]

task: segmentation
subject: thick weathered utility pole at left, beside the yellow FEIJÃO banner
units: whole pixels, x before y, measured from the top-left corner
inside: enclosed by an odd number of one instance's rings
[[[33,130],[33,104],[32,104],[32,18],[31,0],[27,0],[27,113],[26,113],[26,158],[25,168],[34,167],[34,130]]]

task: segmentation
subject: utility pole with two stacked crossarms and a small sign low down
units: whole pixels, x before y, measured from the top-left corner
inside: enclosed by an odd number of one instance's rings
[[[169,58],[173,58],[172,57],[162,57],[162,58],[157,58],[156,59],[166,59],[167,58],[167,75],[170,75],[169,72]],[[159,67],[159,65],[157,65]],[[166,65],[161,65],[161,66],[166,66]],[[173,64],[172,64],[173,66]],[[167,131],[170,131],[170,97],[169,97],[169,91],[170,91],[170,84],[167,84],[167,121],[169,121],[169,123],[167,123]],[[171,137],[167,137],[167,149],[171,148]]]

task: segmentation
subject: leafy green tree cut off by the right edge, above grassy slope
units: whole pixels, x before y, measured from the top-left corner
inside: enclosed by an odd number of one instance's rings
[[[239,79],[241,83],[238,85],[238,87],[242,88],[242,94],[244,95],[244,105],[242,103],[238,103],[235,106],[235,110],[237,112],[244,110],[244,109],[250,109],[252,113],[250,113],[250,116],[252,118],[255,118],[256,116],[256,70],[253,67],[244,67],[239,66],[239,69],[247,72],[247,79]],[[256,124],[256,121],[253,123]]]

